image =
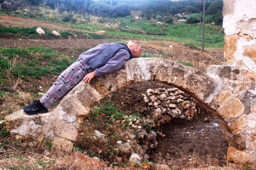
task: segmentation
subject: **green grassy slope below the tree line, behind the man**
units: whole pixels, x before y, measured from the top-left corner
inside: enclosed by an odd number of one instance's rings
[[[156,24],[156,21],[148,21],[145,19],[134,20],[130,15],[127,17],[109,19],[104,17],[97,17],[93,15],[77,15],[72,14],[72,19],[76,22],[62,22],[61,19],[63,16],[60,13],[55,12],[54,10],[43,9],[43,8],[31,8],[29,13],[34,13],[34,15],[29,15],[28,13],[22,12],[4,12],[9,15],[15,15],[20,17],[30,17],[37,20],[47,20],[47,22],[52,22],[56,24],[61,24],[63,26],[72,26],[75,29],[80,29],[81,31],[76,31],[76,34],[79,35],[84,33],[84,35],[92,32],[93,38],[106,38],[106,36],[97,36],[93,33],[95,31],[106,31],[108,36],[125,36],[136,38],[137,40],[164,40],[164,41],[173,41],[180,42],[187,45],[195,45],[196,47],[202,47],[202,23],[199,24],[186,24],[185,22],[173,22],[173,24]],[[132,22],[131,22],[132,21]],[[1,28],[1,27],[0,27]],[[19,28],[11,28],[10,30],[0,29],[0,32],[3,34],[12,32],[14,34],[19,33],[25,36],[36,36],[35,29],[30,31],[19,31]],[[45,28],[45,34],[57,38],[52,33],[50,33],[47,28]],[[86,33],[88,31],[89,33]],[[28,33],[31,33],[28,35]],[[74,32],[73,32],[74,33]],[[69,33],[70,34],[70,33]],[[61,34],[67,38],[68,33],[63,32]],[[158,36],[154,36],[158,35]],[[38,36],[38,35],[37,35]],[[214,47],[214,48],[223,48],[224,44],[224,32],[221,26],[215,26],[212,24],[207,24],[205,26],[205,47]],[[108,37],[109,38],[109,37]]]

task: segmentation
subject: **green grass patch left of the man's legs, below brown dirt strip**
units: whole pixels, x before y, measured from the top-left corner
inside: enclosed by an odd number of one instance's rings
[[[41,79],[43,75],[50,73],[58,75],[75,60],[55,50],[42,47],[0,48],[0,84],[9,84],[11,77],[29,81]]]

